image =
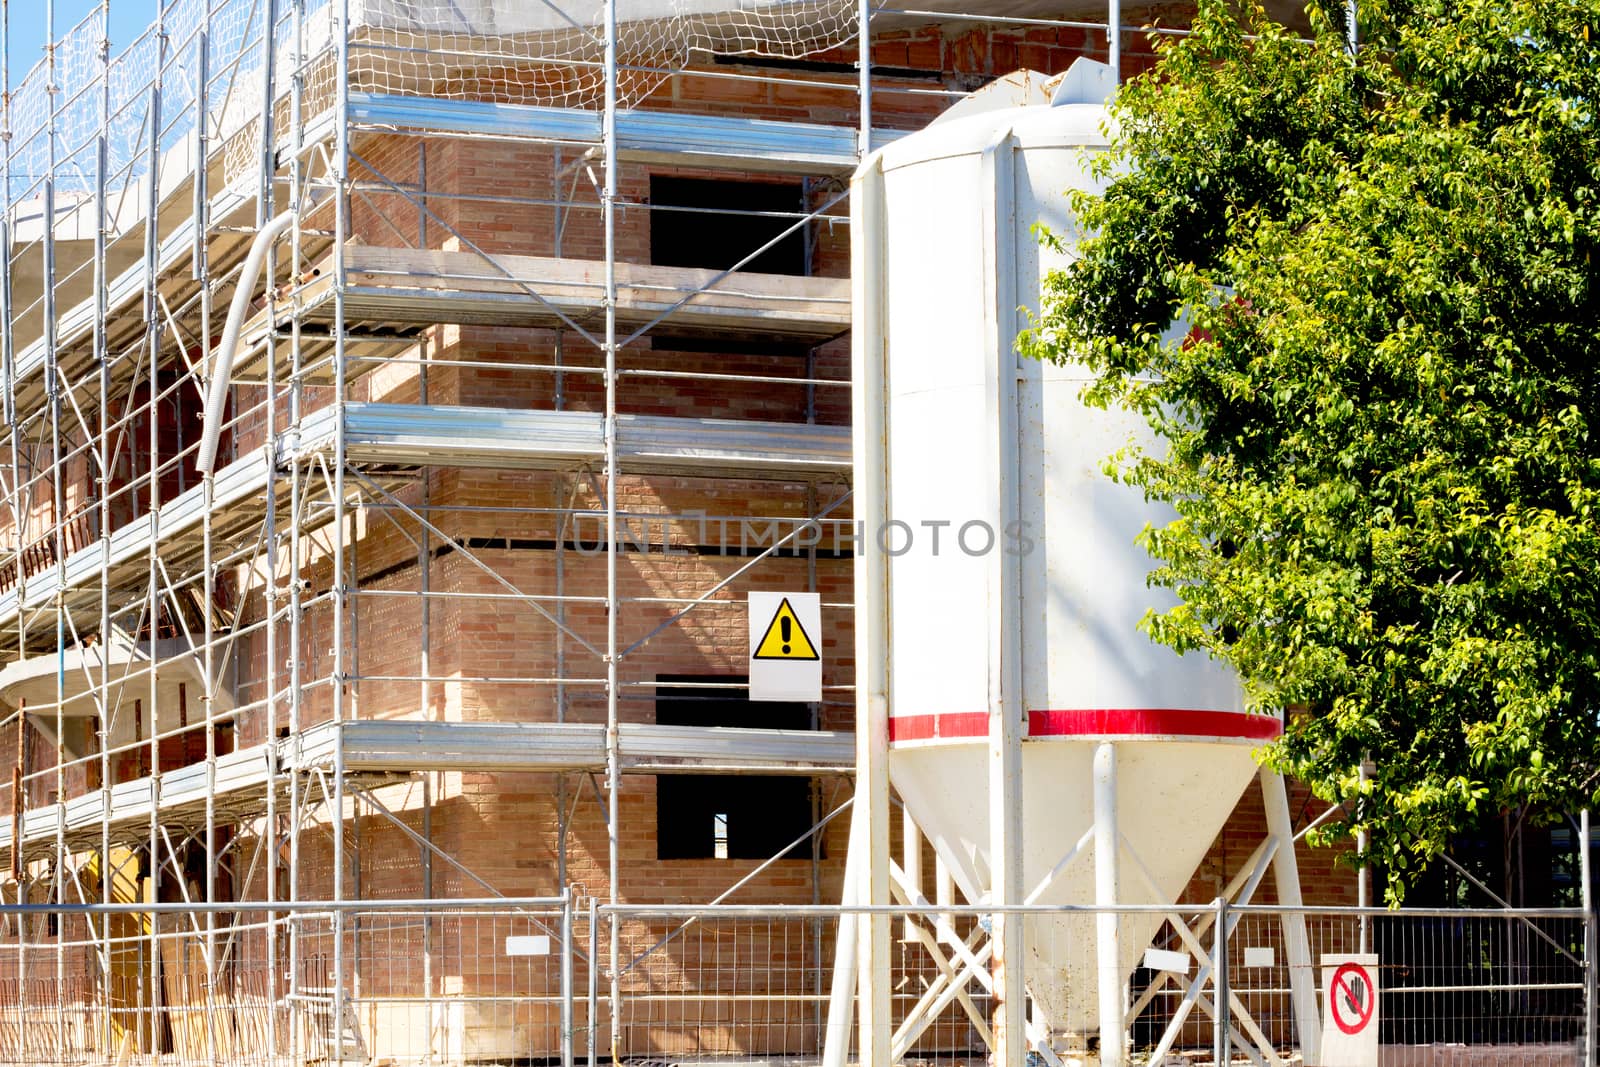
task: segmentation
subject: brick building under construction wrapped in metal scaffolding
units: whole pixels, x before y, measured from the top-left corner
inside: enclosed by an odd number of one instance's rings
[[[856,758],[848,176],[998,75],[1128,77],[1186,13],[51,26],[0,155],[0,854],[40,905],[0,931],[0,1057],[814,1056],[803,909],[840,899]],[[821,702],[747,699],[750,590],[821,595]],[[803,918],[558,921],[590,901]],[[971,1048],[958,1008],[917,1048]]]

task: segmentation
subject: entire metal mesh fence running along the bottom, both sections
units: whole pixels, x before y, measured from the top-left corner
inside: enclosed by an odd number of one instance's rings
[[[818,1062],[830,1013],[850,1008],[854,993],[846,982],[850,995],[832,997],[840,936],[853,937],[866,913],[627,905],[586,913],[546,899],[146,907],[0,909],[0,1059],[576,1064],[614,1053]],[[894,1061],[986,1061],[997,1025],[995,913],[877,910],[893,934]],[[1098,993],[1098,955],[1083,923],[1099,913],[1019,915],[1029,1045],[1046,1064],[1096,1053],[1098,1019],[1086,1005]],[[1381,1067],[1565,1067],[1582,1057],[1581,913],[1230,909],[1224,955],[1211,907],[1117,915],[1131,960],[1122,990],[1130,1064],[1214,1062],[1221,960],[1232,1061],[1302,1054],[1293,971],[1307,965],[1288,952],[1286,918],[1304,923],[1318,985],[1334,960],[1378,958]],[[1155,931],[1149,942],[1141,921]],[[1325,995],[1318,1011],[1326,1033]],[[853,1032],[843,1033],[858,1054]]]

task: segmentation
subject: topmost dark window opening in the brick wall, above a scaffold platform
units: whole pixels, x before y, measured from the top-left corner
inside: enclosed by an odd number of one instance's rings
[[[798,182],[650,178],[650,262],[658,267],[728,270],[795,226]],[[744,264],[755,274],[810,274],[805,227]]]

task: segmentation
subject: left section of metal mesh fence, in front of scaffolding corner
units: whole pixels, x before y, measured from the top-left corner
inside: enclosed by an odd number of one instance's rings
[[[573,1001],[558,902],[232,907],[5,909],[0,1061],[258,1067],[562,1054]]]

